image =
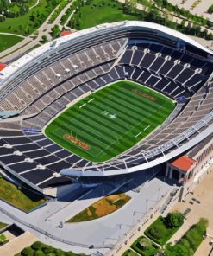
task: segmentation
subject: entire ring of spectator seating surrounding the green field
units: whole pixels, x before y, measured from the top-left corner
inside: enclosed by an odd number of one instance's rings
[[[147,37],[153,40],[155,35]],[[186,53],[174,42],[163,42],[161,37],[158,43],[131,43],[129,39],[127,44],[127,38],[120,38],[88,45],[76,52],[73,48],[61,48],[44,58],[36,72],[30,69],[26,77],[14,81],[13,89],[0,101],[0,111],[21,111],[19,119],[0,122],[0,163],[41,189],[70,182],[60,175],[62,169],[100,171],[95,164],[54,144],[41,131],[79,97],[123,79],[152,87],[178,104],[152,136],[115,160],[103,163],[103,168],[119,170],[152,161],[194,138],[212,122],[210,119],[191,129],[212,111],[213,82],[205,85],[212,71],[213,63],[204,55]],[[190,129],[191,133],[183,136]]]

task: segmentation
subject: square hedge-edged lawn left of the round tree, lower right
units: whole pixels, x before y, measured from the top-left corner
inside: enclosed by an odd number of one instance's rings
[[[179,227],[181,227],[182,224]],[[172,235],[179,230],[179,227],[168,227],[166,223],[166,218],[160,216],[149,227],[147,227],[147,230],[144,232],[144,234],[146,234],[148,238],[150,238],[160,246],[163,246],[166,244],[166,241],[169,240]],[[153,236],[152,230],[155,231],[155,236]]]

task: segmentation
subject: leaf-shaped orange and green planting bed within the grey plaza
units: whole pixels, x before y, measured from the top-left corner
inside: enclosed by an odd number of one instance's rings
[[[115,212],[119,208],[122,208],[122,206],[126,204],[130,199],[130,196],[123,193],[107,195],[97,202],[94,202],[90,207],[85,208],[85,210],[76,214],[66,222],[72,223],[96,220]]]

